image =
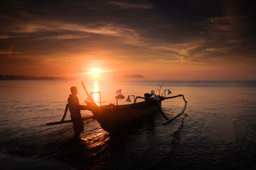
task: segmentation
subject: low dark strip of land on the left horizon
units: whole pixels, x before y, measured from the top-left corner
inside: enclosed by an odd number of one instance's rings
[[[19,76],[19,75],[4,75],[0,74],[0,80],[65,80],[63,77],[49,76]]]

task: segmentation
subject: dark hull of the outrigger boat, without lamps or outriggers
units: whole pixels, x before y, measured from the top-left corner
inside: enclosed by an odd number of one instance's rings
[[[161,101],[143,101],[118,106],[112,104],[97,106],[97,104],[88,101],[86,103],[102,129],[111,133],[129,126],[143,117],[157,113],[156,104],[161,106]]]

